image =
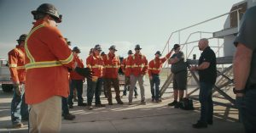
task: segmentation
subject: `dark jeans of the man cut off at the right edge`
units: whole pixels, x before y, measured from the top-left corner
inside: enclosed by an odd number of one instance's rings
[[[236,97],[236,105],[239,109],[241,122],[247,133],[256,132],[256,89],[246,91],[244,97]]]

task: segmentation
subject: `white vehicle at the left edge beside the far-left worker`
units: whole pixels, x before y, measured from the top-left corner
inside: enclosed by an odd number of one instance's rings
[[[0,84],[4,92],[13,91],[13,81],[10,76],[8,61],[3,58],[0,58]]]

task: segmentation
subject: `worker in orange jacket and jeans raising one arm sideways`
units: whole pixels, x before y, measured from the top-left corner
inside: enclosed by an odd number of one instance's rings
[[[171,57],[172,51],[166,54],[165,58],[160,58],[161,53],[157,51],[154,53],[155,58],[151,60],[148,64],[148,76],[150,80],[150,88],[152,94],[152,102],[160,103],[160,71],[162,69],[162,65],[166,62],[168,58]]]

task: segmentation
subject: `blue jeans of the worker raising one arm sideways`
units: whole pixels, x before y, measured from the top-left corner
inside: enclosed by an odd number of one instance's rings
[[[150,88],[151,88],[151,94],[152,94],[152,99],[159,100],[160,98],[160,91],[159,91],[159,86],[160,86],[160,78],[159,75],[152,75],[152,80],[150,80]]]

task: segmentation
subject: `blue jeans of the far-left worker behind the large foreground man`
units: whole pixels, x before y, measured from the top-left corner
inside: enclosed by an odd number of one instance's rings
[[[25,90],[22,85],[21,95],[17,95],[14,88],[14,96],[11,103],[11,120],[13,124],[20,123],[21,119],[28,119],[28,106],[25,103]]]

